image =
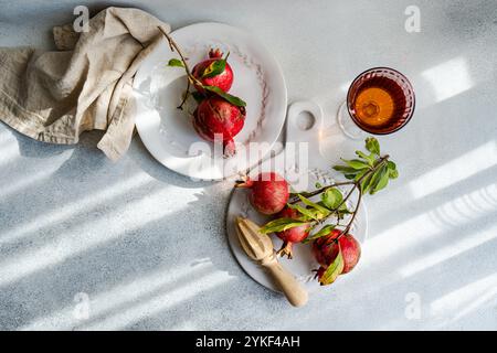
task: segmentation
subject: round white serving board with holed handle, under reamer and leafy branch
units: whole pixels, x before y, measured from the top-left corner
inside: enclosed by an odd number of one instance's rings
[[[310,127],[302,128],[298,122],[300,113],[309,113],[314,116],[314,124]],[[281,175],[294,185],[297,191],[313,191],[316,182],[321,185],[329,185],[335,181],[335,179],[342,179],[338,172],[335,172],[330,165],[331,160],[335,159],[334,151],[320,151],[319,136],[320,129],[322,127],[322,111],[318,105],[313,101],[297,101],[294,103],[288,109],[288,121],[287,121],[287,141],[286,149],[281,154],[272,158],[271,160],[263,161],[260,167],[251,172],[252,176],[257,175],[260,172],[264,171],[276,171]],[[300,126],[300,127],[299,127]],[[289,148],[289,142],[308,143],[309,160],[306,161],[306,165],[303,164],[302,159],[292,159],[289,153],[298,152],[298,145],[294,148]],[[286,154],[285,154],[286,153]],[[324,156],[327,156],[325,158]],[[296,164],[294,164],[296,162]],[[297,172],[302,170],[302,172]],[[303,189],[304,188],[304,189]],[[228,240],[230,243],[231,249],[239,261],[240,266],[251,276],[255,281],[264,287],[272,290],[279,291],[279,289],[274,285],[271,277],[265,272],[264,268],[252,261],[244,250],[242,249],[235,231],[235,218],[237,216],[247,217],[258,225],[265,224],[269,218],[258,214],[250,204],[247,200],[248,190],[235,189],[232,193],[230,204],[228,206],[226,214],[226,232]],[[351,202],[355,200],[356,195],[349,200],[348,206],[352,207]],[[359,212],[352,224],[350,233],[363,244],[368,234],[368,216],[364,203],[361,203]],[[272,235],[275,249],[279,249],[282,246],[282,240]],[[317,280],[314,279],[314,269],[317,269],[319,265],[314,259],[311,254],[310,244],[296,244],[293,246],[294,258],[287,259],[281,258],[281,264],[286,267],[292,274],[295,275],[297,280],[299,280],[309,292],[317,290],[320,286]],[[358,265],[360,266],[360,264]],[[353,272],[353,271],[352,271]]]

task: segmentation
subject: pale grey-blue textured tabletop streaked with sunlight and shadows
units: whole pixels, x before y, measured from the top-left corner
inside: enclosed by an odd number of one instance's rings
[[[51,25],[84,3],[112,2],[0,0],[0,46],[50,49]],[[297,310],[233,258],[231,182],[180,176],[138,136],[112,163],[98,132],[63,147],[0,124],[0,329],[497,329],[496,2],[119,3],[175,29],[248,30],[281,63],[290,100],[315,99],[329,121],[358,73],[398,68],[416,113],[380,141],[401,176],[367,200],[357,269]],[[404,28],[409,6],[420,32]]]

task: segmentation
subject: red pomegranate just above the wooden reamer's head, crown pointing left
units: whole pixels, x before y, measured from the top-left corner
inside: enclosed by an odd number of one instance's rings
[[[262,214],[276,214],[288,202],[288,183],[274,172],[260,173],[256,179],[247,178],[245,182],[237,183],[236,186],[251,189],[248,200]]]

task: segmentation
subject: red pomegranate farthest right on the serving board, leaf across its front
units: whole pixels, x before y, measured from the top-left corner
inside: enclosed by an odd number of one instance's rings
[[[316,260],[321,265],[318,269],[318,279],[322,276],[326,268],[338,255],[338,245],[340,245],[343,256],[343,270],[341,275],[350,272],[361,257],[361,246],[359,242],[350,234],[341,235],[341,231],[334,229],[329,235],[317,238],[313,243],[313,254]],[[338,239],[337,239],[338,238]]]

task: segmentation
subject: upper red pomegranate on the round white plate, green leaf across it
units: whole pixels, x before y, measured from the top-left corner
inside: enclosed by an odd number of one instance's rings
[[[192,75],[199,79],[204,86],[215,86],[224,92],[229,92],[233,84],[233,69],[230,64],[226,63],[222,73],[214,76],[205,76],[205,69],[212,67],[211,65],[218,61],[223,60],[223,53],[216,49],[209,52],[209,58],[197,64],[192,69]],[[203,92],[203,88],[195,85],[197,90]]]

